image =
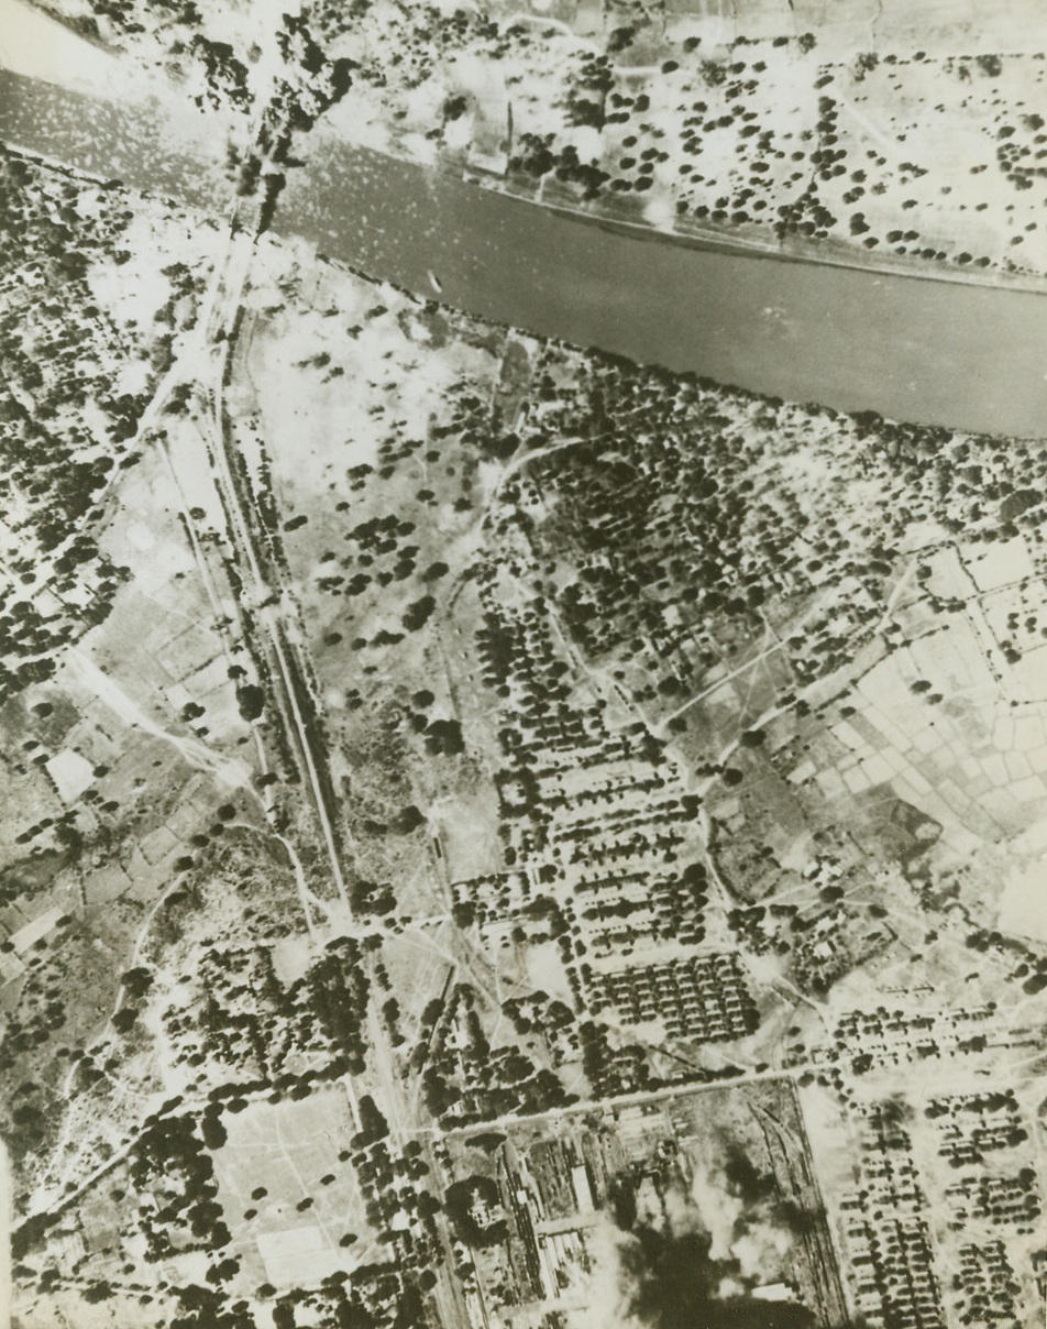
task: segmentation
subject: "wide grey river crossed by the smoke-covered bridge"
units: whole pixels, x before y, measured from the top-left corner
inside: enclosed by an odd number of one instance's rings
[[[175,141],[155,116],[5,72],[0,137],[194,206],[223,194],[221,136]],[[434,274],[445,304],[640,363],[1047,435],[1047,296],[1032,291],[676,245],[330,142],[288,173],[275,229],[419,295],[436,298]]]

